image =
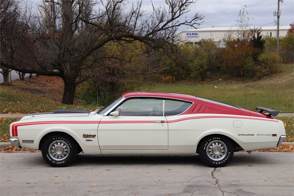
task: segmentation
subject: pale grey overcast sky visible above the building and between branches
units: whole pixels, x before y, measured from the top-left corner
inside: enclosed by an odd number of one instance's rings
[[[38,4],[40,0],[27,0],[34,4]],[[132,2],[137,0],[128,0],[131,6]],[[142,0],[143,9],[152,13],[153,8],[151,0]],[[164,0],[152,0],[154,7],[163,7]],[[205,21],[198,28],[207,27],[231,27],[236,26],[236,19],[240,9],[247,10],[246,17],[251,18],[248,26],[276,26],[277,16],[273,16],[273,12],[278,11],[278,0],[198,0],[192,4],[187,17],[194,15],[196,12],[203,13]],[[283,0],[280,2],[280,26],[289,26],[294,21],[294,1]],[[253,19],[252,19],[253,18]],[[177,33],[188,30],[187,26],[179,28]],[[190,28],[191,29],[191,28]]]

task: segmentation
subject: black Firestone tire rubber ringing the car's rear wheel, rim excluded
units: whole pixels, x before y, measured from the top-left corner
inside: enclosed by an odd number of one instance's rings
[[[214,140],[223,142],[225,146],[227,147],[226,155],[222,157],[221,160],[217,160],[217,161],[210,159],[210,157],[208,157],[206,152],[208,144]],[[201,160],[204,162],[205,165],[209,167],[224,167],[230,162],[230,160],[232,159],[234,155],[234,146],[232,144],[232,141],[223,135],[206,136],[199,142],[198,146],[199,146],[198,154],[200,155]]]

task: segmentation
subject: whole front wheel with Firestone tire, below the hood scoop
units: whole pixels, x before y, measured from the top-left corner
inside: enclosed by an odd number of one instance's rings
[[[42,145],[42,156],[52,167],[67,167],[77,156],[76,141],[66,134],[47,137]]]

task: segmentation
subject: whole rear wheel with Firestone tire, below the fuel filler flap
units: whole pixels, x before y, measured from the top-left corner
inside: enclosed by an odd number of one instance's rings
[[[209,135],[198,146],[198,154],[208,167],[224,167],[234,155],[232,141],[223,135]]]

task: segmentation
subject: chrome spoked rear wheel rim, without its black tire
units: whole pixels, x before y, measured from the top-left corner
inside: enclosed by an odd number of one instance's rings
[[[227,155],[227,147],[222,141],[214,140],[207,145],[206,153],[211,160],[219,161]]]

